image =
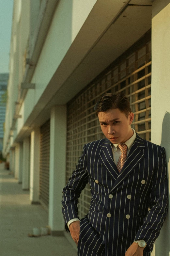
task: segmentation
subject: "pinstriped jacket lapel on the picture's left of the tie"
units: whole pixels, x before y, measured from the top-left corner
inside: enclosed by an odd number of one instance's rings
[[[107,171],[111,177],[116,181],[119,171],[116,168],[115,162],[113,160],[112,146],[109,139],[105,139],[100,145],[102,149],[98,156],[101,158],[103,165],[107,168]]]

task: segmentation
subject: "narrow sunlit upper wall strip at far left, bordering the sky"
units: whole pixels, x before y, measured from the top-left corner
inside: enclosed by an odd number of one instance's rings
[[[29,1],[14,1],[9,60],[8,106],[4,134],[5,146],[14,118],[15,102],[18,99],[19,86],[23,79],[24,53],[29,38],[29,14]],[[14,138],[16,135],[17,133],[14,132]],[[10,145],[12,144],[10,143]]]

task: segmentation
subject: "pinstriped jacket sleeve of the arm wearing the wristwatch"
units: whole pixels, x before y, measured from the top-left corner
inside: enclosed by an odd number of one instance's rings
[[[156,238],[159,236],[168,209],[168,182],[166,176],[166,158],[164,148],[158,151],[158,160],[153,173],[151,193],[149,196],[150,210],[144,218],[143,225],[138,230],[135,240],[143,239],[149,250],[153,250]]]

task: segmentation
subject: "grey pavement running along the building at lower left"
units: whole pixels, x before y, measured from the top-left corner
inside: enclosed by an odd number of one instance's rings
[[[28,237],[34,227],[48,225],[48,214],[41,205],[31,205],[29,191],[0,164],[0,255],[76,256],[65,237]]]

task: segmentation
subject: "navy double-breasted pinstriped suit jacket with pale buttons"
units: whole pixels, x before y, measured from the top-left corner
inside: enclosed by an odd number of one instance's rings
[[[137,135],[119,173],[108,139],[87,143],[62,191],[66,230],[67,222],[78,217],[78,198],[88,182],[91,203],[80,220],[79,241],[99,254],[105,249],[107,256],[124,256],[138,239],[146,241],[145,251],[152,251],[168,207],[164,148]]]

